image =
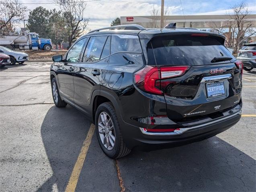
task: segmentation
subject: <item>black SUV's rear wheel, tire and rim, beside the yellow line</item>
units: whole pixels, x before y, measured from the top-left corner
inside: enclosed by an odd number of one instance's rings
[[[106,114],[107,116],[104,116],[104,114]],[[104,126],[104,123],[101,117],[104,117],[108,120],[108,123],[106,124],[109,125],[109,128],[106,128],[106,126]],[[99,124],[101,124],[101,126]],[[111,127],[113,128],[111,129]],[[127,146],[125,145],[125,142],[123,140],[123,135],[121,133],[119,122],[117,119],[116,111],[110,102],[102,103],[100,104],[100,106],[98,106],[96,115],[95,115],[95,129],[96,129],[96,135],[97,135],[97,139],[101,149],[110,158],[113,158],[113,159],[121,158],[123,156],[128,155],[131,152],[131,150],[127,148]],[[113,137],[111,136],[111,134],[112,136],[115,137],[115,140],[113,140]],[[106,144],[104,144],[104,141],[106,142]],[[109,141],[109,145],[107,144],[108,141]],[[111,144],[111,141],[112,141],[112,144]]]

